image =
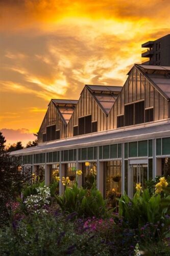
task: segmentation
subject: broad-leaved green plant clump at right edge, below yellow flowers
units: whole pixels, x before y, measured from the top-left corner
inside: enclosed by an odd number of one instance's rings
[[[166,189],[168,191],[168,188]],[[155,224],[155,236],[157,229],[163,236],[169,234],[170,196],[163,193],[150,195],[149,189],[143,192],[137,191],[133,199],[123,195],[119,201],[119,216],[128,221],[130,227],[139,229],[147,223]]]

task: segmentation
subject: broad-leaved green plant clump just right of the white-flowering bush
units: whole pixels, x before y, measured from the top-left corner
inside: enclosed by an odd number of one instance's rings
[[[84,217],[106,215],[105,201],[95,183],[90,190],[78,188],[77,182],[72,188],[66,186],[64,195],[57,196],[56,200],[63,212],[77,212]]]

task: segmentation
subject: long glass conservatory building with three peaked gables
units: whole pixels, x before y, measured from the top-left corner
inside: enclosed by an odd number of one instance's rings
[[[86,85],[79,100],[52,99],[38,145],[11,155],[46,185],[58,170],[72,186],[81,169],[80,186],[96,179],[104,198],[113,188],[132,197],[136,183],[170,174],[170,67],[135,64],[123,87]]]

